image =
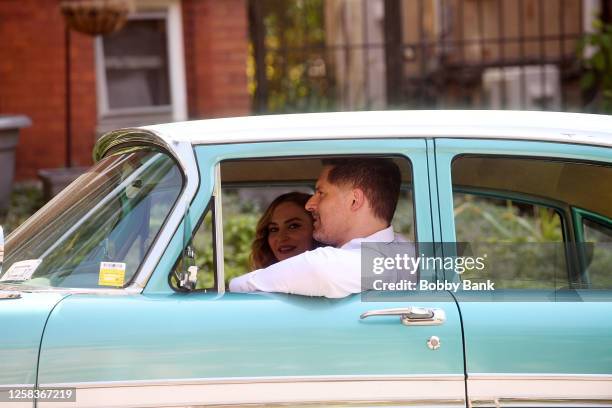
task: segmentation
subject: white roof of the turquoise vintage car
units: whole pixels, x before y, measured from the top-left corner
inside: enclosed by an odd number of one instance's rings
[[[459,137],[612,147],[612,117],[539,111],[364,111],[174,122],[141,129],[193,145],[287,140]]]

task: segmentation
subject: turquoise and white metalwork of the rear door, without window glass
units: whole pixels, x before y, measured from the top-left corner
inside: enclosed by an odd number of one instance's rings
[[[457,139],[435,143],[445,242],[455,241],[451,166],[460,155],[612,163],[612,149],[596,146]],[[565,211],[565,216],[571,217],[571,212]],[[564,228],[571,236],[571,225]],[[481,295],[459,292],[456,297],[470,400],[546,400],[585,393],[612,399],[612,291],[496,290]]]

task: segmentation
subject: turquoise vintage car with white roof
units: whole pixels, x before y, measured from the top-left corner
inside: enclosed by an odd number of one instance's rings
[[[458,290],[227,293],[259,211],[329,156],[393,159],[397,230],[501,261],[419,272]],[[612,406],[610,117],[215,119],[117,130],[94,157],[6,239],[0,404]]]

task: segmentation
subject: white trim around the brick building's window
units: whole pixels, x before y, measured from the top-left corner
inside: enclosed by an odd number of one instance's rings
[[[187,120],[187,88],[185,83],[185,58],[183,49],[183,23],[179,0],[139,0],[136,12],[130,20],[165,18],[167,28],[168,79],[170,82],[170,105],[110,109],[102,37],[95,41],[96,89],[98,95],[98,118],[138,116],[169,113],[172,121]]]

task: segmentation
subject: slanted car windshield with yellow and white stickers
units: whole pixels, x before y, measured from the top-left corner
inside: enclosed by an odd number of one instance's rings
[[[103,159],[8,237],[0,284],[127,286],[182,184],[159,151]]]

